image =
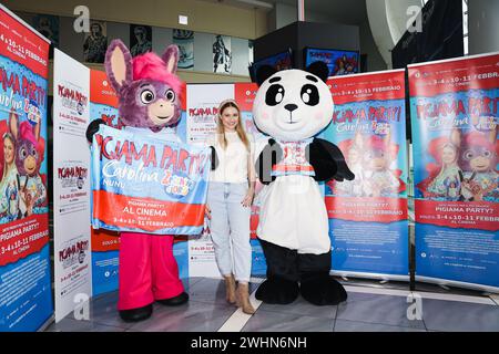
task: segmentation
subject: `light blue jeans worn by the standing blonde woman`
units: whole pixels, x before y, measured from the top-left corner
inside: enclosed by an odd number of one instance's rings
[[[211,181],[207,192],[207,204],[212,211],[210,231],[215,247],[216,264],[222,275],[228,277],[232,273],[240,282],[248,282],[252,270],[252,209],[242,205],[247,189],[247,183]]]

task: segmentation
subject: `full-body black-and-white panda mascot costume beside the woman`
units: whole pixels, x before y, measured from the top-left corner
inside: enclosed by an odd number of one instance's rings
[[[323,62],[306,71],[262,66],[256,73],[253,118],[269,136],[256,160],[258,177],[267,185],[257,228],[267,279],[256,299],[265,303],[292,303],[299,293],[315,305],[335,305],[347,298],[329,275],[329,222],[317,184],[355,178],[339,148],[314,137],[333,117],[327,76]]]

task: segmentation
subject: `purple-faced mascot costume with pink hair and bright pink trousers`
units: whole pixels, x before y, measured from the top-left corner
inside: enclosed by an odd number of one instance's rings
[[[149,52],[132,59],[123,42],[111,42],[105,71],[119,96],[120,119],[125,129],[172,139],[162,133],[181,117],[182,81],[175,75],[177,61],[176,45],[167,46],[161,58]],[[100,124],[104,122],[96,119],[89,125],[89,140]],[[124,321],[150,317],[155,301],[170,306],[189,301],[173,257],[173,236],[139,232],[120,236],[118,310]]]

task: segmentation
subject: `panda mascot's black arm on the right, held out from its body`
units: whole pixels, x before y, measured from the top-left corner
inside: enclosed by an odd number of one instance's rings
[[[353,180],[355,175],[345,163],[342,150],[334,144],[314,138],[307,146],[308,162],[314,167],[315,180],[327,181],[332,178],[337,181]]]

